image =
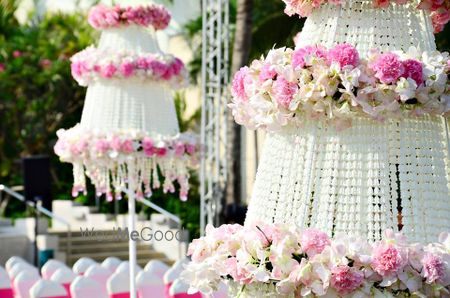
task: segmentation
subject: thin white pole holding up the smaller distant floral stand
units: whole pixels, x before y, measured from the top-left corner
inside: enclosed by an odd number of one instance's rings
[[[129,263],[130,263],[130,298],[136,298],[136,241],[131,238],[131,233],[136,230],[136,188],[135,188],[135,161],[128,163],[128,241]]]

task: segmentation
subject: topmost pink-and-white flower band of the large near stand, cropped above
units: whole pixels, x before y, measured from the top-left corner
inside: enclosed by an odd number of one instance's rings
[[[282,0],[286,4],[284,12],[289,15],[309,16],[314,9],[320,8],[326,3],[342,5],[348,0]],[[434,33],[444,30],[445,24],[450,21],[450,1],[447,0],[373,0],[373,7],[386,8],[391,3],[406,5],[412,3],[417,9],[423,9],[430,14]]]

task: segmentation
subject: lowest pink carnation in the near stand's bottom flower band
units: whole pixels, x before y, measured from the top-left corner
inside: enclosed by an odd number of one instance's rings
[[[364,281],[364,273],[354,267],[340,265],[331,271],[331,286],[339,294],[350,294],[359,288]]]

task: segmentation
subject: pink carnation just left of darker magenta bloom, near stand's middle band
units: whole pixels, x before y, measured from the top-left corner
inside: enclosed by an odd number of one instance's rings
[[[399,57],[394,53],[380,55],[378,59],[370,65],[375,71],[375,77],[382,83],[392,84],[397,82],[405,72],[405,67]]]

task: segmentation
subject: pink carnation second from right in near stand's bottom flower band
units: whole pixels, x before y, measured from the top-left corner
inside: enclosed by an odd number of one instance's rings
[[[373,270],[383,277],[395,274],[403,268],[406,262],[402,252],[392,244],[376,245],[372,257]]]

